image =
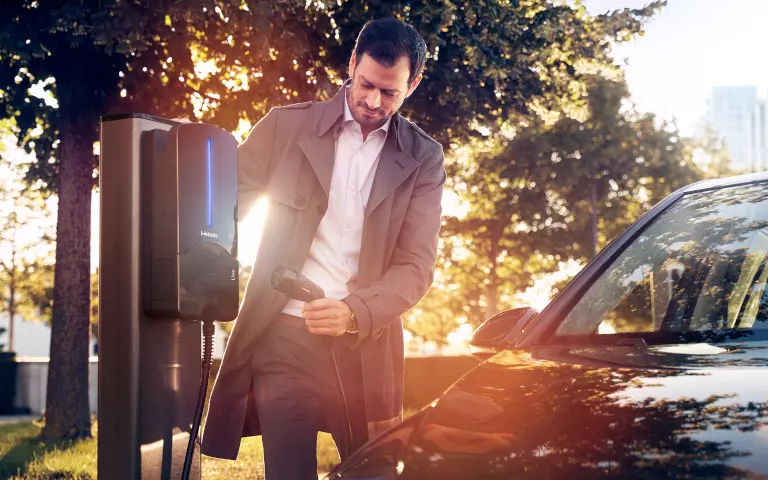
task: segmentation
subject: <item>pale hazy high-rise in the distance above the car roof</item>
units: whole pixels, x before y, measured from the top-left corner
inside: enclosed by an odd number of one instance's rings
[[[725,139],[734,169],[768,170],[768,101],[757,87],[714,87],[707,120]]]

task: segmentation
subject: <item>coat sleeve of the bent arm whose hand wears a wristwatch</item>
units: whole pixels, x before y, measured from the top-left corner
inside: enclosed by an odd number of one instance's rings
[[[358,333],[346,335],[351,346],[360,345],[416,305],[432,285],[446,179],[443,162],[438,145],[419,171],[387,271],[343,299],[358,323]]]

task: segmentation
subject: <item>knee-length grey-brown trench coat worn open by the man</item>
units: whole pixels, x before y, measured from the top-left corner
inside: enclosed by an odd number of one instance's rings
[[[328,202],[343,92],[327,102],[273,108],[238,148],[238,209],[247,212],[263,194],[270,207],[213,386],[202,433],[206,455],[235,459],[240,439],[260,434],[251,359],[259,337],[288,300],[269,287],[269,277],[279,264],[301,271],[309,254]],[[365,211],[358,286],[346,298],[359,333],[339,342],[360,356],[369,435],[402,419],[400,316],[433,280],[445,178],[441,145],[395,115]]]

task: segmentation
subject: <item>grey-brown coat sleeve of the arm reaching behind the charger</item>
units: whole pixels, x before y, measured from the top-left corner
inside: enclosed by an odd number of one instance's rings
[[[237,147],[237,216],[242,221],[269,181],[278,109],[272,108]]]

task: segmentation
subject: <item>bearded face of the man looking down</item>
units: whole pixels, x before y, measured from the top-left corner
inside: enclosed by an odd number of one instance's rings
[[[384,67],[368,55],[359,61],[352,55],[349,76],[352,78],[347,97],[349,110],[355,121],[368,131],[379,128],[394,115],[421,80],[419,76],[408,85],[410,64],[405,55],[392,68]]]

